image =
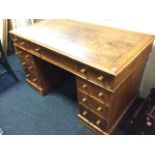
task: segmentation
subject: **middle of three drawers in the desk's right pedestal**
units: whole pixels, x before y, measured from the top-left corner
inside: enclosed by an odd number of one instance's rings
[[[82,105],[85,105],[86,107],[93,110],[97,114],[108,119],[110,108],[107,107],[102,102],[95,100],[94,98],[88,96],[87,94],[82,93],[81,91],[78,91],[78,101]]]

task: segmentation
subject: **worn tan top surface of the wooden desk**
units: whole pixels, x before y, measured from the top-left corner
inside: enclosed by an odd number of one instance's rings
[[[11,33],[114,76],[154,40],[153,35],[62,19]]]

